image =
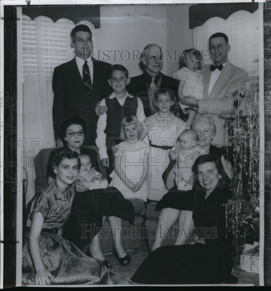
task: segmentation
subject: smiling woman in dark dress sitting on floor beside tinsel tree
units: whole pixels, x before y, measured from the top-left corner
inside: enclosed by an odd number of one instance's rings
[[[233,182],[217,156],[202,155],[193,165],[195,233],[192,244],[163,246],[152,251],[132,276],[144,284],[229,283],[233,260],[226,239],[224,203],[232,198]]]

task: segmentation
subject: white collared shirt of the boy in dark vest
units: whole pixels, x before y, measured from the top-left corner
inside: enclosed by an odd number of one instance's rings
[[[127,96],[130,96],[131,95],[126,91],[126,96],[125,98],[118,98],[116,97],[115,93],[113,92],[110,96],[109,96],[109,99],[113,99],[114,97],[117,98],[118,100],[118,103],[123,106],[124,104],[124,101],[125,99],[127,98]],[[139,121],[144,121],[146,116],[144,114],[144,110],[142,110],[143,108],[143,104],[142,104],[142,101],[137,98],[137,101],[138,101],[138,106],[137,106],[137,119]],[[105,104],[105,98],[102,99],[101,103],[100,103],[100,106],[104,106],[106,105]],[[99,119],[98,119],[98,123],[97,123],[97,138],[96,138],[96,145],[99,149],[99,156],[100,156],[100,160],[104,159],[104,158],[108,158],[108,155],[107,155],[107,148],[105,147],[105,139],[106,139],[106,133],[104,133],[104,130],[106,128],[106,120],[107,120],[107,114],[106,112],[102,115],[99,116]]]

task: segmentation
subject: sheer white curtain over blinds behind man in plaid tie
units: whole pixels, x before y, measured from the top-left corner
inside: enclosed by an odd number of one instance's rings
[[[17,11],[20,15],[20,8]],[[18,157],[22,156],[22,166],[29,178],[27,203],[35,192],[33,158],[41,148],[55,147],[52,77],[56,66],[75,56],[70,47],[70,31],[75,24],[64,18],[53,22],[45,16],[34,20],[26,15],[20,16],[22,21],[17,27],[17,86],[19,98],[23,99],[23,126],[18,137],[22,139],[23,147],[19,149]],[[88,21],[79,24],[91,29],[95,41],[94,25]]]

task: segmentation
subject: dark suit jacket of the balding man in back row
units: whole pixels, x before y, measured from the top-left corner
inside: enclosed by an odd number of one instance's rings
[[[133,94],[135,97],[138,97],[141,99],[144,105],[145,116],[148,117],[151,115],[151,112],[150,112],[150,109],[145,106],[145,104],[148,104],[148,102],[146,102],[146,100],[148,100],[148,86],[146,84],[146,74],[147,73],[145,72],[139,76],[132,77],[130,84],[128,84],[127,86],[127,91],[128,93]],[[161,75],[162,75],[162,80],[161,80],[160,88],[167,87],[171,89],[173,91],[174,96],[176,97],[178,101],[179,81],[172,77],[166,76],[162,73]],[[183,110],[180,107],[179,107],[179,114],[180,114],[179,117],[182,120],[185,120],[185,114],[183,113]]]

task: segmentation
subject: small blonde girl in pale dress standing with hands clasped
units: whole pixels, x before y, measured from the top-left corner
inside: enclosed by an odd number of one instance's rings
[[[121,143],[115,146],[114,171],[109,187],[117,188],[124,198],[147,201],[148,159],[150,147],[140,140],[142,125],[135,116],[126,116],[121,124]]]

